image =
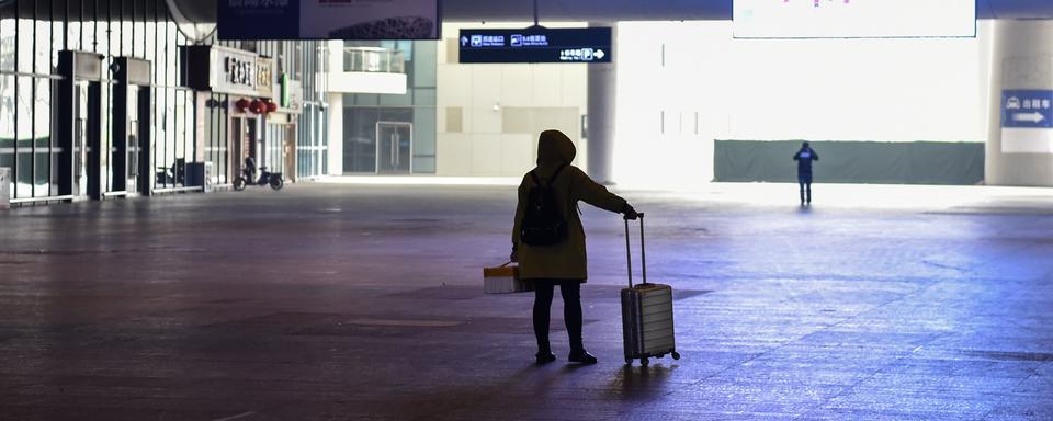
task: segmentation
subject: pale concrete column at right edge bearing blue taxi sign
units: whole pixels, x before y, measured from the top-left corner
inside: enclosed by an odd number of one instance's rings
[[[997,20],[990,36],[985,181],[1053,185],[1053,128],[1001,127],[1003,91],[1053,91],[1053,21]]]

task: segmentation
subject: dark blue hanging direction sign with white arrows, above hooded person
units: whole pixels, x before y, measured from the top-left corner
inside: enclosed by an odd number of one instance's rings
[[[461,30],[461,62],[611,62],[610,27]]]

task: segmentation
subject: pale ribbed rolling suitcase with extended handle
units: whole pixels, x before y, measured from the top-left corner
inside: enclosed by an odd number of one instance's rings
[[[622,289],[622,334],[625,340],[625,364],[639,359],[647,365],[652,356],[671,354],[680,360],[673,334],[672,287],[647,283],[647,260],[644,251],[644,214],[639,214],[639,261],[644,283],[633,285],[633,257],[629,244],[629,219],[625,220],[625,255],[629,259],[629,287]]]

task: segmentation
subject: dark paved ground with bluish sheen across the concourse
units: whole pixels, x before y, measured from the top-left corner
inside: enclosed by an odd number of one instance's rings
[[[600,363],[566,364],[561,330],[535,367],[532,297],[482,293],[509,187],[14,209],[0,420],[1053,419],[1049,191],[817,186],[799,209],[793,189],[625,192],[677,291],[683,359],[646,368],[622,361],[624,240],[601,210],[582,293]]]

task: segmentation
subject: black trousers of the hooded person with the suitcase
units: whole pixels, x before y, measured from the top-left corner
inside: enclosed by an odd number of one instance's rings
[[[556,285],[563,295],[563,319],[567,325],[571,351],[582,351],[581,343],[581,282],[577,280],[534,280],[534,337],[537,352],[551,352],[548,345],[548,312]]]

